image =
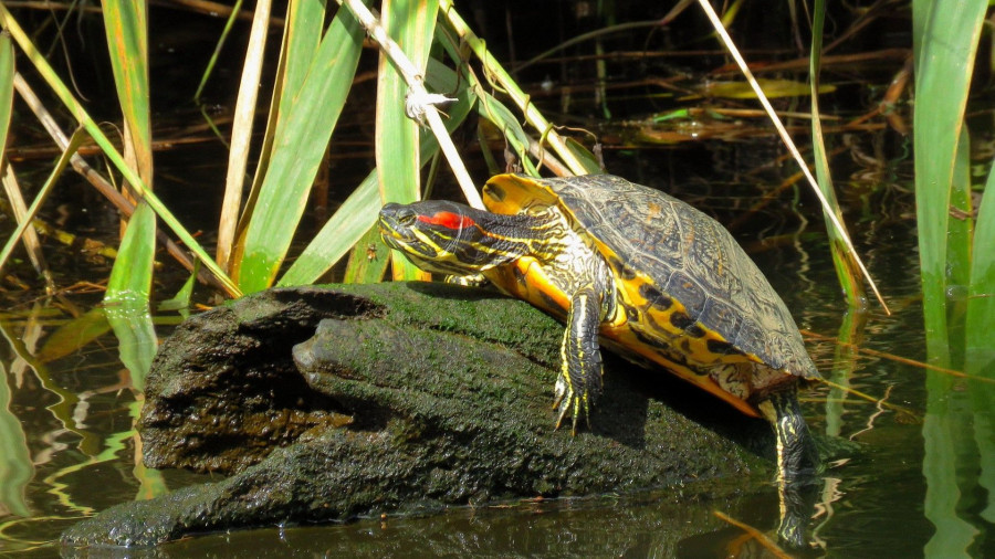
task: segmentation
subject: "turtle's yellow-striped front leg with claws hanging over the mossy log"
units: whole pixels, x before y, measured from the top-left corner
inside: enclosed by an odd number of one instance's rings
[[[601,351],[598,349],[598,325],[601,302],[593,285],[584,286],[570,299],[570,316],[563,335],[561,357],[563,365],[556,380],[553,408],[559,409],[556,429],[567,414],[573,415],[573,433],[577,434],[577,420],[590,426],[589,411],[601,392]]]

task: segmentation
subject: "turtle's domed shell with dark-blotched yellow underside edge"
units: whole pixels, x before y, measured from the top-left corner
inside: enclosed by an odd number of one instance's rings
[[[748,387],[733,400],[786,376],[819,376],[767,278],[725,228],[688,203],[609,175],[502,175],[488,182],[484,202],[496,213],[558,207],[591,241],[626,313],[625,324],[604,325],[601,334],[622,351],[692,376],[723,363],[757,365],[739,368],[748,371]]]

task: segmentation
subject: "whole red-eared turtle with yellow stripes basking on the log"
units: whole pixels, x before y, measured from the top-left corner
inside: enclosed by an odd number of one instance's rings
[[[388,203],[384,242],[432,273],[482,274],[566,325],[556,428],[601,390],[600,347],[662,367],[775,432],[779,479],[818,468],[800,412],[819,378],[787,306],[729,231],[660,190],[610,175],[492,177],[489,211]]]

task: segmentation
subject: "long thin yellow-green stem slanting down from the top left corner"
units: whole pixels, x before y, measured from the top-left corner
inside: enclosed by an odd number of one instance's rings
[[[180,241],[182,241],[189,250],[197,255],[198,259],[201,260],[203,265],[218,278],[219,283],[222,287],[228,292],[229,295],[237,297],[241,295],[241,291],[239,287],[228,277],[214,261],[207,254],[200,243],[193,239],[193,235],[190,234],[189,231],[172,215],[172,212],[169,211],[168,208],[163,203],[158,197],[155,196],[145,184],[145,181],[142,180],[142,177],[138,176],[137,172],[132,170],[130,167],[125,162],[124,158],[114,147],[114,144],[104,135],[104,131],[101,130],[101,127],[96,124],[96,122],[91,118],[91,116],[86,113],[83,106],[73,97],[73,94],[69,91],[55,71],[49,65],[45,57],[41,52],[34,46],[31,40],[28,38],[28,34],[24,33],[24,30],[18,24],[17,20],[13,19],[10,11],[7,10],[3,3],[0,3],[0,27],[4,28],[10,32],[11,38],[20,45],[21,50],[28,56],[28,60],[34,65],[38,70],[39,74],[44,78],[45,83],[52,88],[52,92],[59,97],[59,99],[65,105],[66,108],[70,109],[73,117],[86,129],[90,136],[96,141],[97,146],[101,147],[104,155],[107,156],[107,159],[112,165],[124,176],[125,180],[134,188],[137,193],[146,199],[148,204],[156,211],[163,221],[169,225],[169,228],[176,233]]]

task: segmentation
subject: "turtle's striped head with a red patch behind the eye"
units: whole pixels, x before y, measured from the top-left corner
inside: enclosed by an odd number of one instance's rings
[[[499,215],[444,200],[388,203],[380,210],[380,236],[426,272],[468,275],[522,255],[521,242],[498,231],[507,229]]]

